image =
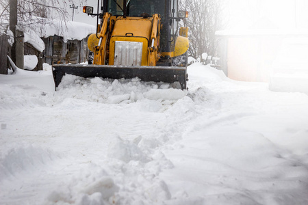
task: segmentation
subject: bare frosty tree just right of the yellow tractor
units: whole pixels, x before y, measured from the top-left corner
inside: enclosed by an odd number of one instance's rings
[[[184,25],[189,28],[188,55],[198,58],[202,53],[216,55],[218,42],[215,32],[223,28],[221,0],[181,0],[182,10],[189,12]]]

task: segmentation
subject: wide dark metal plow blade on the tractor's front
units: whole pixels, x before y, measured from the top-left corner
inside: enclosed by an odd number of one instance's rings
[[[65,74],[84,78],[102,77],[107,79],[133,79],[156,83],[179,82],[181,90],[186,89],[186,68],[168,66],[107,66],[107,65],[53,65],[53,79],[57,87]]]

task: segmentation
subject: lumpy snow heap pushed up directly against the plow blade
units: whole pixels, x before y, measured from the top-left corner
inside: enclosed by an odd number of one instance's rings
[[[187,94],[186,91],[174,89],[166,83],[146,83],[138,78],[128,80],[108,80],[99,77],[84,79],[70,74],[62,78],[57,90],[59,96],[110,104],[136,102],[144,98],[170,103]]]

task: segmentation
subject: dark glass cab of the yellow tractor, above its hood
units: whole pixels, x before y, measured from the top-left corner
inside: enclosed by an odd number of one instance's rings
[[[93,15],[92,12],[93,9],[90,15]],[[162,27],[159,33],[159,49],[162,52],[162,58],[175,57],[172,51],[175,51],[177,37],[188,37],[188,29],[179,28],[179,21],[187,18],[188,12],[178,10],[177,0],[103,0],[101,20],[104,13],[110,13],[116,17],[123,16],[123,18],[151,18],[153,14],[159,14],[159,24]]]

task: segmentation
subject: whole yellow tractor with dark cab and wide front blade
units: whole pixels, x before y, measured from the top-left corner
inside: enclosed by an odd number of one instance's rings
[[[55,87],[64,74],[73,74],[179,82],[181,89],[186,89],[188,28],[179,28],[179,21],[187,18],[188,12],[178,10],[177,0],[101,0],[97,14],[93,11],[84,7],[84,13],[97,16],[98,22],[97,33],[88,38],[93,62],[53,65]]]

